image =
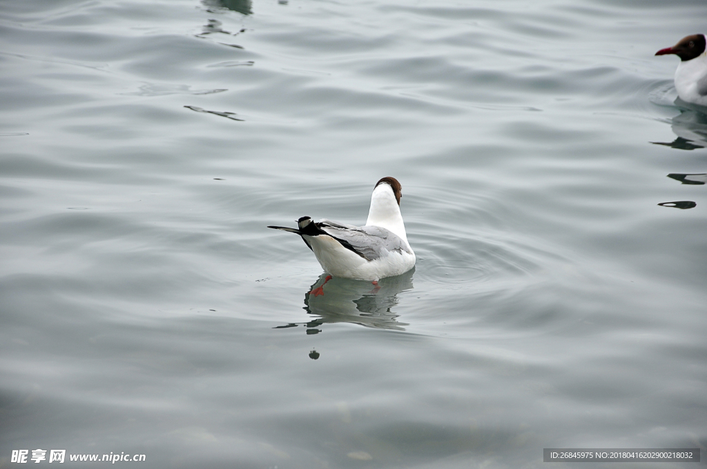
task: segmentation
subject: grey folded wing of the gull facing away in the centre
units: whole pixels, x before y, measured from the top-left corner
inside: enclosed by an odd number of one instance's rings
[[[327,220],[327,224],[322,223],[320,227],[332,237],[350,244],[358,254],[368,261],[380,259],[392,251],[410,252],[407,242],[385,228],[377,226],[355,227],[353,225],[339,228],[331,223]]]

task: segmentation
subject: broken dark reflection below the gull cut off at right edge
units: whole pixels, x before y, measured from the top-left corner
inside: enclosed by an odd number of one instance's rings
[[[675,104],[679,107],[680,114],[671,119],[671,126],[677,138],[672,142],[650,143],[669,146],[677,150],[707,148],[707,108],[691,105],[680,98],[675,100]],[[682,182],[682,184],[704,185],[707,182],[707,174],[670,173],[667,177]],[[697,206],[694,201],[662,202],[658,205],[682,208],[683,210]]]

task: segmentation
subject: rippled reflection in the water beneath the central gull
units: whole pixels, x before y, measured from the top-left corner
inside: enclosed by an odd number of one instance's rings
[[[407,323],[398,322],[392,309],[397,305],[397,295],[412,289],[415,269],[396,277],[378,280],[378,286],[363,280],[335,278],[322,273],[310,290],[305,293],[304,310],[312,320],[289,323],[276,329],[304,326],[308,334],[320,333],[325,323],[348,322],[361,326],[404,331]],[[319,355],[317,354],[317,357]],[[311,357],[311,355],[310,355]]]

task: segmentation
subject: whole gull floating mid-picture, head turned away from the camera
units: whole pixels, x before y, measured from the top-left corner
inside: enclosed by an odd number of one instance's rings
[[[400,213],[402,188],[395,177],[375,184],[366,225],[358,227],[332,220],[297,220],[297,228],[269,226],[296,233],[334,277],[377,280],[400,275],[415,266],[415,253],[407,242]],[[323,285],[322,285],[323,287]]]

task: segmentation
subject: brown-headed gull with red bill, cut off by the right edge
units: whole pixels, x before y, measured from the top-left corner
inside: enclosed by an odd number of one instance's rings
[[[675,71],[675,89],[684,102],[707,106],[707,53],[705,35],[683,37],[673,47],[666,47],[655,55],[675,54],[680,57]]]

